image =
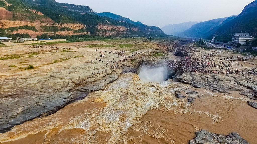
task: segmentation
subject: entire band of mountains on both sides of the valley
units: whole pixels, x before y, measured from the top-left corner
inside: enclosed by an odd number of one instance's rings
[[[134,22],[113,13],[96,13],[89,6],[57,3],[54,0],[0,0],[0,36],[28,33],[30,36],[168,36],[208,38],[213,35],[257,33],[257,0],[245,6],[239,15],[167,25],[163,31],[155,26]]]

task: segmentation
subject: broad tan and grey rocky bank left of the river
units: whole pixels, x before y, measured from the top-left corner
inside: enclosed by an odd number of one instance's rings
[[[100,57],[99,52],[95,51],[97,47],[90,48],[90,45],[101,46],[103,45],[101,42],[59,44],[59,48],[69,50],[46,48],[45,52],[42,49],[16,48],[15,46],[10,47],[10,52],[3,49],[3,56],[17,51],[21,58],[1,60],[4,71],[0,76],[0,132],[6,132],[13,126],[36,117],[53,114],[67,104],[85,98],[88,95],[87,92],[104,89],[107,84],[117,80],[121,73],[136,73],[143,63],[157,65],[168,58],[167,54],[162,57],[152,56],[157,52],[163,53],[157,43],[146,43],[142,39],[136,42],[128,40],[127,43],[133,45],[133,49],[139,54],[134,55],[128,51],[127,56],[133,57],[127,58],[126,61],[119,61],[117,54],[105,54],[104,58]],[[119,47],[120,43],[112,44]],[[179,45],[182,43],[176,41],[170,43],[170,48]],[[141,50],[141,46],[148,46],[148,48]],[[116,47],[105,47],[101,51],[116,52]],[[129,50],[131,47],[123,49]],[[31,55],[31,52],[34,56],[27,56]],[[96,59],[101,59],[101,61]],[[111,62],[110,60],[118,61],[117,65],[120,69],[110,70],[110,66],[106,64]],[[5,69],[8,68],[8,64],[15,65],[15,67],[7,72]],[[22,69],[23,65],[29,64],[34,65],[35,69],[26,71]],[[6,65],[7,68],[5,68]],[[21,69],[18,69],[20,65]],[[102,73],[105,70],[107,72]],[[92,75],[92,71],[95,73],[100,71],[101,74]]]

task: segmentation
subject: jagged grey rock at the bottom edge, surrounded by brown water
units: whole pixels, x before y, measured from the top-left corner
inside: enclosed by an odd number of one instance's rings
[[[238,133],[232,132],[229,135],[219,135],[206,130],[196,132],[196,138],[190,140],[190,144],[249,144]]]

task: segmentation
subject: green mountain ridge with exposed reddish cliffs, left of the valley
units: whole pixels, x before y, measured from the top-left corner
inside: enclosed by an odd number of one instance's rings
[[[118,22],[120,21],[120,22]],[[122,22],[124,21],[124,22]],[[10,33],[42,35],[167,36],[155,26],[146,26],[112,13],[95,13],[89,6],[54,0],[0,0],[0,36]]]

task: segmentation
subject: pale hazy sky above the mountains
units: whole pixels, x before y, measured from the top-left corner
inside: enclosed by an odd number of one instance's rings
[[[56,0],[89,6],[97,13],[111,12],[122,17],[162,28],[168,24],[237,15],[254,0]]]

